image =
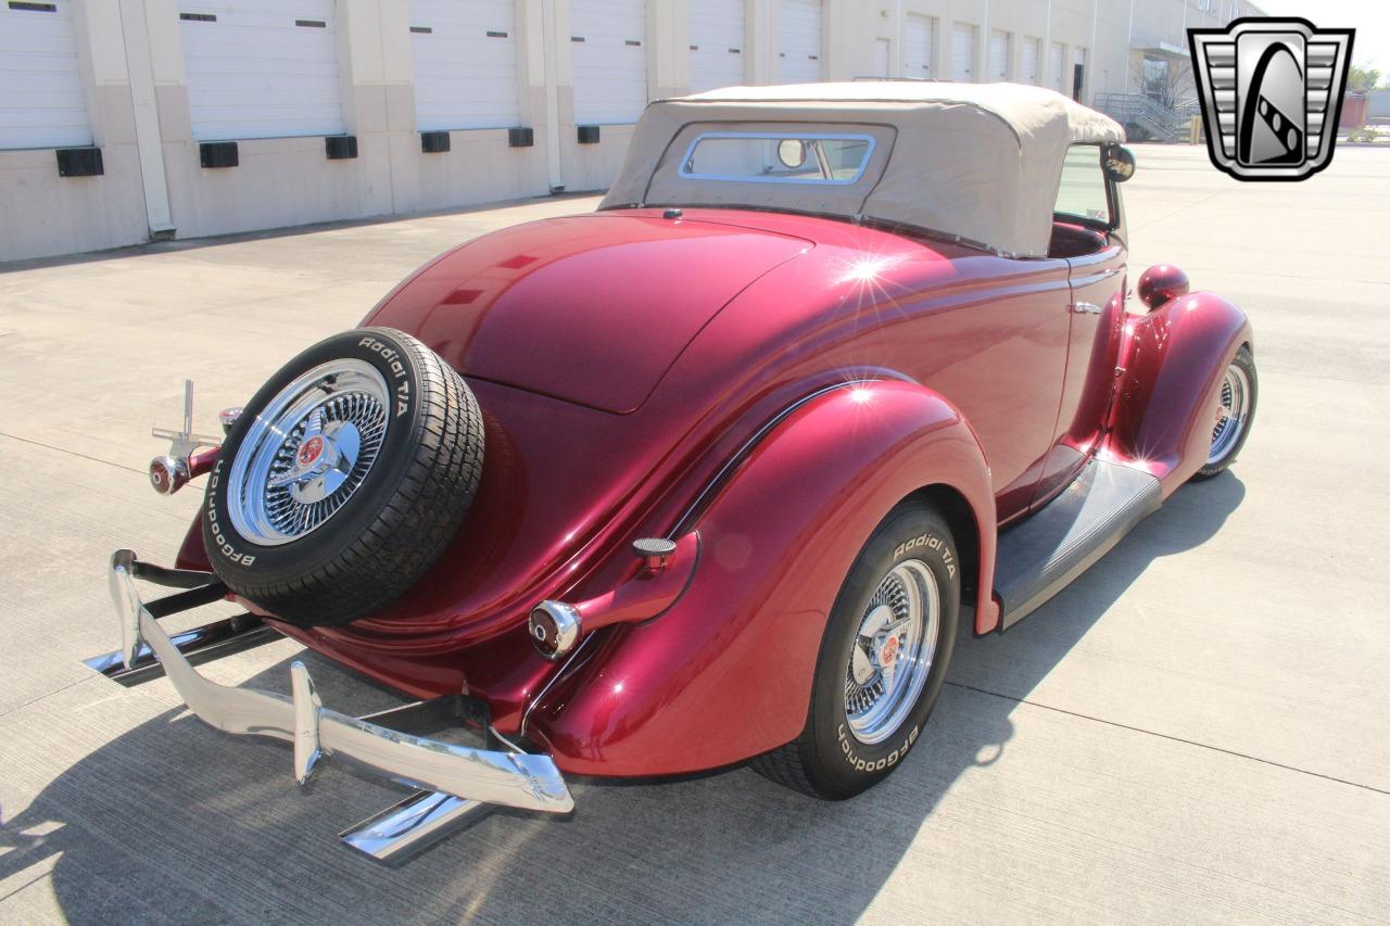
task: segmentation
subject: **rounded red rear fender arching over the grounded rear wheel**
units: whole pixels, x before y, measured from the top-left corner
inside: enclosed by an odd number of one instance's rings
[[[976,624],[992,628],[994,494],[973,431],[916,384],[853,384],[806,402],[748,453],[695,524],[685,594],[588,640],[525,734],[566,772],[599,776],[712,769],[794,740],[851,563],[927,485],[951,487],[976,520]]]

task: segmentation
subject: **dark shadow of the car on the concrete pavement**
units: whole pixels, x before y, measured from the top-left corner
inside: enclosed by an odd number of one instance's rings
[[[1151,562],[1207,541],[1243,498],[1232,474],[1183,488],[1011,630],[1008,645],[962,627],[916,749],[856,799],[813,801],[746,769],[659,784],[581,780],[569,818],[499,811],[388,869],[342,848],[336,833],[396,793],[332,762],[296,793],[286,747],[224,737],[167,710],[76,762],[4,820],[0,879],[51,865],[54,895],[74,923],[851,922],[919,830],[958,825],[934,811],[963,774],[986,765],[1006,773],[1019,699]],[[325,704],[382,706],[384,692],[360,677],[313,653],[304,659]],[[288,691],[288,660],[246,684]],[[926,861],[910,877],[941,876]]]

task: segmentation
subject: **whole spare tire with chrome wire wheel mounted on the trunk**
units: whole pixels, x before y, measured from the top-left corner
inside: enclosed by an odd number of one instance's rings
[[[252,398],[207,482],[203,544],[228,588],[302,627],[399,598],[439,559],[482,474],[482,414],[435,352],[334,335]]]

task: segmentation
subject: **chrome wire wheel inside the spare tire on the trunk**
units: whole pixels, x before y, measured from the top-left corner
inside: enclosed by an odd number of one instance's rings
[[[381,453],[386,381],[361,360],[314,367],[249,424],[228,473],[227,506],[245,539],[278,546],[342,510]]]

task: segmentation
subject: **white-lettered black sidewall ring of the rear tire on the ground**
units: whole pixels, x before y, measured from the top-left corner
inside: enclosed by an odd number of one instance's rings
[[[908,560],[924,563],[937,580],[940,622],[937,647],[916,705],[881,742],[855,738],[845,716],[845,667],[855,637],[878,583]],[[808,719],[808,741],[815,751],[812,777],[830,798],[852,797],[891,773],[916,745],[935,705],[955,648],[960,615],[960,560],[944,519],[926,505],[903,505],[878,526],[855,559],[835,599],[816,666],[816,685]]]

